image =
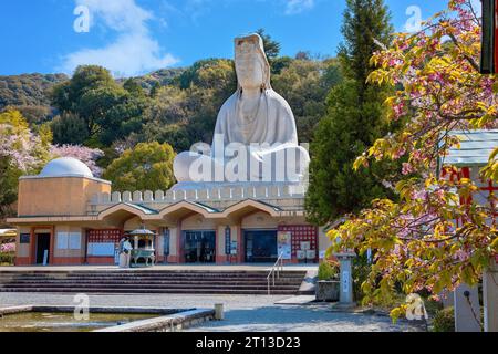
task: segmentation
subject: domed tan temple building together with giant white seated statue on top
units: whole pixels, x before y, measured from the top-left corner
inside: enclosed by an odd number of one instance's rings
[[[310,156],[292,110],[271,87],[261,37],[235,39],[235,54],[238,86],[212,145],[178,154],[170,190],[116,192],[72,158],[22,177],[9,220],[15,263],[115,264],[120,241],[141,227],[156,233],[159,263],[318,262],[330,243],[305,220]]]

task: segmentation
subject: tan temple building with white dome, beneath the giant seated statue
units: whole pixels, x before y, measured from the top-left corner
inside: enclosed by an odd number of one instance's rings
[[[317,262],[329,246],[304,217],[304,189],[222,186],[113,192],[73,158],[21,177],[17,266],[116,264],[123,236],[142,225],[156,233],[158,263]]]

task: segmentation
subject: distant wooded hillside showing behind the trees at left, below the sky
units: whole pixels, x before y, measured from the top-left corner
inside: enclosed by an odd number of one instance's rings
[[[149,91],[155,85],[170,84],[184,72],[185,69],[162,69],[135,80]],[[0,75],[0,111],[7,106],[15,107],[31,124],[50,121],[58,112],[51,107],[48,93],[54,85],[69,79],[65,74]],[[120,83],[124,81],[117,80]]]

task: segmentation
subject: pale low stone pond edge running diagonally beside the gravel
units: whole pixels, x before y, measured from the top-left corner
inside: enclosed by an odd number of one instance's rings
[[[215,319],[215,310],[190,310],[157,319],[135,321],[128,324],[94,332],[179,332]]]

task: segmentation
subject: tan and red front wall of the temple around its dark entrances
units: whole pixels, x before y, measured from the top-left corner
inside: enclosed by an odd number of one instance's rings
[[[304,218],[272,218],[262,211],[250,211],[247,216],[241,217],[239,221],[230,220],[210,220],[200,215],[191,215],[185,219],[179,219],[176,227],[168,227],[166,222],[143,221],[138,217],[122,225],[113,225],[112,228],[104,222],[58,222],[46,225],[25,225],[19,227],[18,236],[18,266],[41,264],[43,259],[40,258],[38,244],[44,236],[50,240],[48,264],[53,266],[74,266],[74,264],[114,264],[115,254],[113,248],[105,254],[92,253],[92,243],[98,243],[101,240],[93,240],[91,233],[116,231],[111,243],[117,247],[118,240],[126,231],[133,230],[135,227],[144,225],[147,229],[154,231],[157,236],[155,239],[155,249],[157,253],[157,262],[159,263],[186,263],[186,232],[214,232],[216,240],[216,258],[212,263],[243,263],[246,262],[247,250],[246,232],[250,231],[272,231],[274,235],[286,227],[309,227]],[[227,253],[227,228],[229,229],[230,242],[237,242],[237,252],[234,256]],[[165,236],[167,233],[167,237]],[[199,233],[200,235],[200,233]],[[293,236],[294,237],[294,236]],[[167,238],[167,240],[166,240]],[[330,241],[323,229],[317,229],[317,254],[326,250]],[[167,246],[167,253],[165,251]],[[95,244],[93,246],[95,248]],[[292,246],[293,257],[289,262],[299,262],[295,257],[294,244]]]

